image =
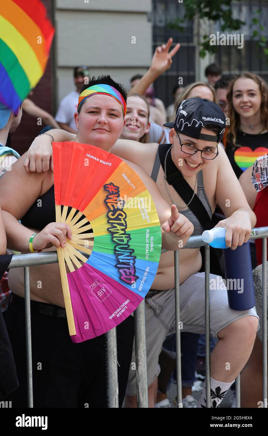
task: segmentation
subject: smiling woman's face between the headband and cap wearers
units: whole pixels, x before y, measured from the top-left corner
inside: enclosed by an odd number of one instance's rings
[[[150,130],[148,115],[148,106],[143,99],[138,96],[128,97],[125,125],[120,138],[139,141]]]

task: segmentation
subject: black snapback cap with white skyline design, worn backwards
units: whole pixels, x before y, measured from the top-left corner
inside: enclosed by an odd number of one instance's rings
[[[195,97],[180,102],[174,123],[165,123],[164,126],[173,128],[191,138],[219,143],[223,138],[225,123],[225,115],[216,103]],[[201,133],[201,129],[207,124],[221,127],[219,135]]]

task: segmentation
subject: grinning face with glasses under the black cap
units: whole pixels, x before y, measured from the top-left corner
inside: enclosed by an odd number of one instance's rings
[[[205,135],[216,136],[214,132],[203,127],[201,133]],[[174,164],[179,168],[184,177],[195,176],[196,173],[202,170],[205,166],[209,165],[212,160],[204,159],[201,157],[201,152],[197,151],[195,154],[186,154],[182,151],[179,138],[181,143],[187,146],[194,146],[199,148],[199,150],[217,152],[217,143],[211,141],[204,141],[200,139],[191,138],[190,136],[183,135],[179,133],[179,137],[174,129],[171,129],[169,133],[169,141],[173,144],[171,149],[172,160]]]

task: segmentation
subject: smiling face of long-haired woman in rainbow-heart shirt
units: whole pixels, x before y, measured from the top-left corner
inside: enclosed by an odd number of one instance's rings
[[[261,91],[258,83],[250,78],[239,78],[233,86],[233,106],[245,118],[256,115],[261,107]]]

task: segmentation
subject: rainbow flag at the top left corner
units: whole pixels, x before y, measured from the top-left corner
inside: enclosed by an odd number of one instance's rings
[[[0,2],[0,101],[13,112],[44,74],[54,32],[41,1]]]

